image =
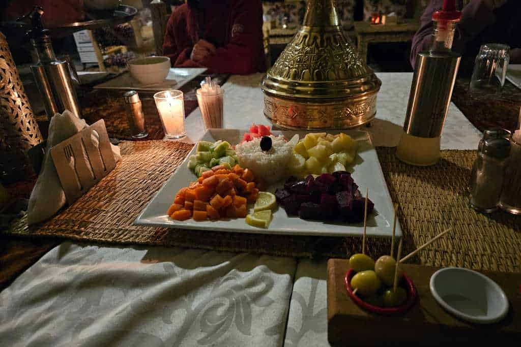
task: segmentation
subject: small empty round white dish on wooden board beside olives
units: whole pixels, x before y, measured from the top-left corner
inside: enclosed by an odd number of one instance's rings
[[[505,292],[496,282],[476,271],[442,268],[431,276],[429,286],[443,309],[467,322],[497,323],[508,312]]]

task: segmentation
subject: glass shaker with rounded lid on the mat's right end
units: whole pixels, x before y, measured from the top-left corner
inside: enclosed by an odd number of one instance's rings
[[[499,208],[503,177],[510,141],[504,137],[485,139],[470,177],[470,206],[476,211],[491,213]]]

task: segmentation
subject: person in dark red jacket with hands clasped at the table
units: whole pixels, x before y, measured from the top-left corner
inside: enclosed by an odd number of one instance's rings
[[[164,55],[210,73],[265,71],[261,0],[188,0],[168,20]]]

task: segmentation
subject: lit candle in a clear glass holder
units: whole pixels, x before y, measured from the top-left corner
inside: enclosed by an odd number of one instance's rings
[[[154,94],[159,118],[167,138],[181,138],[184,130],[184,99],[181,91],[163,91]]]

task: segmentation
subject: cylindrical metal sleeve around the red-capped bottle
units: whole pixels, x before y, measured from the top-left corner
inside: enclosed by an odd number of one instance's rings
[[[439,137],[451,102],[461,55],[422,52],[417,55],[403,130],[417,137]]]

